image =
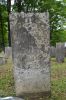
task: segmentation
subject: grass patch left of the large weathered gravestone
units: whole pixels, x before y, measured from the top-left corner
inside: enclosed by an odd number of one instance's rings
[[[14,78],[12,61],[8,60],[5,65],[0,66],[0,96],[14,96]]]

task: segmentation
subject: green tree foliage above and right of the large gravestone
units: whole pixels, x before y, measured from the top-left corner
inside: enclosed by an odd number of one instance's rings
[[[50,18],[50,43],[55,45],[56,42],[60,42],[61,36],[65,35],[63,30],[63,24],[66,22],[66,0],[17,0],[14,5],[15,10],[20,12],[44,12],[49,11]],[[62,32],[62,34],[61,34]],[[64,36],[62,37],[64,38]]]

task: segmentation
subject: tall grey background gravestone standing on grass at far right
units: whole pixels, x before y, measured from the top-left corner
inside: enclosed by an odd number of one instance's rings
[[[56,60],[59,63],[64,62],[64,43],[56,44]]]

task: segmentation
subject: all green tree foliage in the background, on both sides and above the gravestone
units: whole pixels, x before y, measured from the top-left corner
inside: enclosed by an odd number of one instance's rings
[[[3,0],[5,2],[5,0]],[[10,12],[10,3],[8,2],[8,8]],[[0,4],[0,14],[2,15],[3,37],[4,45],[8,45],[8,12],[5,4]],[[63,31],[63,25],[66,25],[66,0],[15,0],[13,5],[13,11],[24,12],[49,12],[50,23],[50,43],[55,45],[56,42],[66,41],[65,31]],[[2,29],[0,27],[0,48],[2,47]]]

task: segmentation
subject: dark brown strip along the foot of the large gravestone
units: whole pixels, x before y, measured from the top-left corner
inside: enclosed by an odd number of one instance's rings
[[[17,95],[18,96],[18,95]],[[46,100],[51,97],[51,91],[40,92],[40,93],[25,93],[19,95],[19,97],[25,98],[25,100]]]

